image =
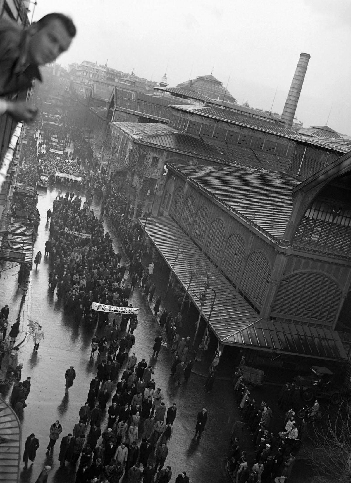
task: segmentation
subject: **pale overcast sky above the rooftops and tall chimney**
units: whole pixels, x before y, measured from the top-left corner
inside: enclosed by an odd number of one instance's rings
[[[351,135],[350,0],[37,0],[34,20],[58,11],[77,36],[58,58],[83,60],[171,87],[198,75],[227,84],[239,104],[281,113],[301,52],[311,58],[296,117]],[[30,18],[30,14],[29,14]]]

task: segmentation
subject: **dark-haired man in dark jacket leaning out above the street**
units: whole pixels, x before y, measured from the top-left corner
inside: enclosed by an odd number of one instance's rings
[[[0,115],[25,122],[35,118],[37,109],[28,102],[1,97],[28,89],[33,79],[41,81],[38,67],[68,50],[75,34],[72,20],[63,14],[44,15],[28,28],[0,19]]]

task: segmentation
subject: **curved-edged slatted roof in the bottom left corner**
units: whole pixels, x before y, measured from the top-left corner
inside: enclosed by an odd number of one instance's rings
[[[0,481],[19,481],[21,424],[10,406],[0,397]]]

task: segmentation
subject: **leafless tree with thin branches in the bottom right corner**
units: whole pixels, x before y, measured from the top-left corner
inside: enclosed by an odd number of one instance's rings
[[[313,425],[313,426],[312,426]],[[311,463],[318,483],[351,481],[351,402],[330,405],[320,423],[312,423],[311,444],[300,455]]]

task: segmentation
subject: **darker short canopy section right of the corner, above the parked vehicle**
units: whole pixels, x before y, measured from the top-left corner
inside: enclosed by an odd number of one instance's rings
[[[332,360],[348,359],[337,331],[287,322],[259,320],[233,332],[226,341],[257,349],[274,349],[285,354],[295,353]]]

